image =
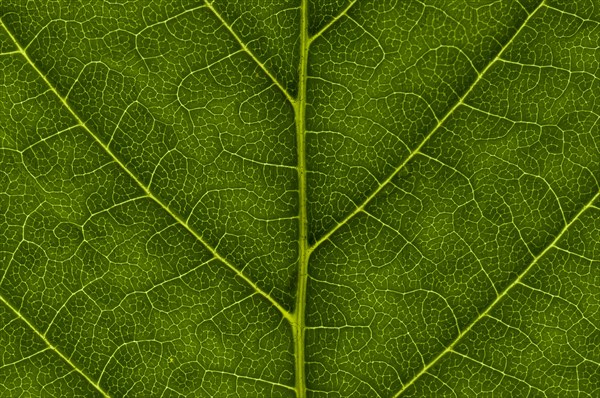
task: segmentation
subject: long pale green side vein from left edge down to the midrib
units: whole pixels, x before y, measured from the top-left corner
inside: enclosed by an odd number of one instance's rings
[[[123,169],[123,171],[125,171],[137,183],[137,185],[144,191],[144,193],[146,194],[146,196],[148,196],[149,198],[151,198],[152,200],[154,200],[161,208],[163,208],[164,211],[166,211],[171,217],[173,217],[173,219],[175,219],[179,224],[181,224],[181,226],[183,226],[189,233],[191,233],[200,243],[202,243],[212,253],[212,255],[214,256],[214,258],[216,258],[217,260],[219,260],[220,262],[222,262],[223,264],[225,264],[228,268],[230,268],[239,278],[241,278],[242,280],[244,280],[257,293],[259,293],[261,296],[263,296],[265,299],[267,299],[275,308],[277,308],[279,310],[279,312],[281,312],[281,314],[284,316],[284,318],[286,318],[287,320],[289,320],[291,322],[292,321],[292,315],[285,308],[283,308],[281,306],[281,304],[279,304],[267,292],[265,292],[260,287],[258,287],[251,279],[249,279],[244,273],[242,273],[231,262],[229,262],[227,259],[225,259],[224,257],[222,257],[212,246],[210,246],[204,240],[204,238],[202,238],[202,236],[200,236],[198,233],[196,233],[196,231],[194,231],[189,226],[189,224],[186,221],[184,221],[176,213],[174,213],[173,211],[171,211],[171,209],[161,199],[159,199],[157,196],[155,196],[150,191],[150,189],[149,189],[148,186],[144,185],[136,177],[136,175],[133,174],[133,172],[131,170],[129,170],[127,168],[127,166],[125,166],[125,164],[116,156],[116,154],[108,146],[106,146],[106,144],[104,142],[102,142],[102,140],[100,140],[100,138],[96,134],[94,134],[92,132],[92,130],[90,130],[87,127],[87,125],[83,122],[83,120],[81,120],[81,118],[79,118],[79,116],[77,115],[77,113],[75,112],[75,110],[73,108],[71,108],[71,106],[69,105],[69,103],[67,102],[67,100],[59,94],[59,92],[52,85],[52,83],[50,83],[50,81],[46,78],[46,76],[42,73],[42,71],[35,65],[35,63],[31,60],[31,58],[29,58],[29,55],[27,55],[27,53],[25,52],[25,50],[23,50],[23,48],[21,47],[21,45],[19,44],[19,42],[16,40],[16,38],[14,37],[14,35],[12,34],[12,32],[8,29],[8,27],[3,22],[1,22],[1,21],[0,21],[0,24],[4,27],[4,30],[6,30],[6,32],[9,35],[9,37],[11,38],[11,40],[17,46],[19,53],[25,58],[25,60],[31,65],[31,67],[38,73],[38,75],[40,76],[40,78],[48,85],[48,87],[50,88],[50,90],[61,101],[61,103],[69,111],[69,113],[71,113],[71,115],[73,115],[73,117],[77,121],[77,124],[79,126],[81,126],[88,134],[90,134],[90,136],[104,149],[104,151],[108,155],[111,156],[111,158],[115,161],[115,163],[117,163],[119,165],[119,167],[121,169]]]

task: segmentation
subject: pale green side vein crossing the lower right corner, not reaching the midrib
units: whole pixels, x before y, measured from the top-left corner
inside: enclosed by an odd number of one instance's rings
[[[402,395],[402,393],[404,391],[406,391],[411,385],[413,385],[417,380],[419,380],[419,378],[421,376],[423,376],[425,373],[427,373],[429,371],[429,369],[431,369],[436,363],[439,362],[439,360],[444,357],[447,353],[449,352],[455,352],[454,351],[454,347],[456,346],[456,344],[458,344],[458,342],[460,340],[462,340],[463,337],[465,337],[465,335],[467,333],[469,333],[469,331],[471,329],[473,329],[473,327],[475,325],[477,325],[479,323],[479,321],[481,321],[483,318],[485,318],[486,316],[488,316],[488,314],[490,314],[490,312],[496,307],[496,305],[504,298],[506,297],[506,295],[517,285],[519,284],[523,284],[523,278],[525,278],[525,276],[529,273],[529,271],[540,261],[541,258],[543,258],[546,253],[548,253],[551,249],[555,248],[557,243],[560,241],[560,239],[565,235],[565,233],[569,230],[569,228],[571,227],[571,225],[573,225],[578,219],[579,217],[581,217],[581,215],[583,213],[585,213],[587,210],[591,209],[593,206],[592,204],[594,203],[594,201],[596,201],[596,199],[600,198],[600,191],[598,191],[596,193],[596,195],[594,195],[594,197],[592,197],[592,199],[590,199],[582,208],[581,210],[579,210],[579,212],[571,219],[571,221],[569,221],[569,223],[567,225],[564,226],[564,228],[558,233],[558,235],[556,235],[556,237],[554,238],[554,240],[548,245],[546,246],[546,248],[537,256],[535,256],[533,258],[533,260],[531,261],[531,263],[529,263],[529,265],[527,266],[527,268],[525,268],[520,274],[519,276],[510,284],[508,285],[498,296],[496,296],[496,298],[494,299],[494,301],[492,301],[486,308],[485,310],[483,310],[483,312],[481,312],[479,314],[479,316],[477,316],[477,318],[475,318],[471,323],[469,323],[467,325],[467,327],[465,327],[455,338],[454,340],[452,340],[452,342],[448,345],[448,347],[446,347],[445,350],[443,350],[442,352],[440,352],[438,355],[436,355],[423,369],[421,369],[421,371],[419,373],[417,373],[415,376],[413,376],[412,379],[410,379],[407,383],[404,384],[404,386],[402,387],[402,389],[400,391],[398,391],[395,395],[394,398],[398,398]]]

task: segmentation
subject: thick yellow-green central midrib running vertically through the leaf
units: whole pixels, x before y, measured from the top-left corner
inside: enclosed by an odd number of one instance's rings
[[[298,237],[298,290],[292,329],[295,344],[296,393],[297,398],[306,397],[306,377],[304,374],[304,330],[306,312],[306,287],[308,282],[308,214],[306,208],[306,80],[308,65],[308,0],[300,6],[300,66],[298,78],[298,98],[294,102],[296,116],[296,147],[298,150],[298,197],[299,197],[299,237]]]

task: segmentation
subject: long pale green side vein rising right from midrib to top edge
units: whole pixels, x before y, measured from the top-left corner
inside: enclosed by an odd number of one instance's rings
[[[342,219],[342,221],[338,222],[335,226],[333,226],[327,233],[325,233],[318,241],[312,244],[309,248],[309,251],[314,251],[317,247],[319,247],[323,242],[327,241],[338,229],[343,227],[350,221],[354,216],[359,214],[363,209],[381,192],[402,169],[421,151],[421,149],[429,142],[431,137],[444,125],[446,120],[448,120],[456,109],[458,109],[461,105],[465,103],[465,100],[471,94],[473,89],[477,86],[477,84],[483,79],[483,76],[487,73],[490,68],[496,64],[498,60],[502,57],[502,54],[506,51],[508,47],[512,44],[515,38],[519,35],[519,33],[523,30],[523,28],[527,25],[527,23],[531,20],[531,18],[537,13],[537,11],[542,8],[544,5],[544,1],[542,1],[536,8],[527,16],[525,21],[521,24],[521,26],[515,31],[512,37],[504,44],[504,46],[500,49],[498,54],[477,74],[477,77],[471,83],[467,91],[459,98],[459,100],[454,104],[452,108],[446,112],[444,117],[439,119],[435,127],[425,136],[425,138],[421,141],[421,143],[404,159],[404,161],[383,181],[381,182],[373,192],[363,202],[357,206],[352,212],[350,212],[346,217]]]

